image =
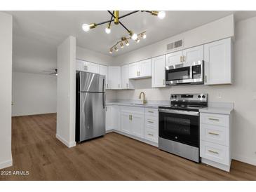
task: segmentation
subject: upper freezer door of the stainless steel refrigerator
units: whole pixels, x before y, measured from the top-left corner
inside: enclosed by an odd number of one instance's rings
[[[80,71],[80,92],[105,92],[105,76]]]

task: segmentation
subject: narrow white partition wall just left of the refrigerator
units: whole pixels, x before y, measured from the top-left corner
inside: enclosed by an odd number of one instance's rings
[[[76,145],[76,38],[69,36],[57,50],[57,134],[68,147]]]

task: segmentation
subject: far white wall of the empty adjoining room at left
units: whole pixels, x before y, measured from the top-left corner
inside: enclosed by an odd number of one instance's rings
[[[13,72],[12,116],[57,112],[57,76]]]

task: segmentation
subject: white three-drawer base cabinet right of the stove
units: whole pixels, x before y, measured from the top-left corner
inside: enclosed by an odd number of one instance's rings
[[[200,113],[202,162],[229,172],[231,165],[231,114]]]

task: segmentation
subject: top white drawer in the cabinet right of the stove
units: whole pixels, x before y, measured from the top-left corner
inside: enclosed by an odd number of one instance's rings
[[[201,113],[200,123],[229,127],[229,115]]]

